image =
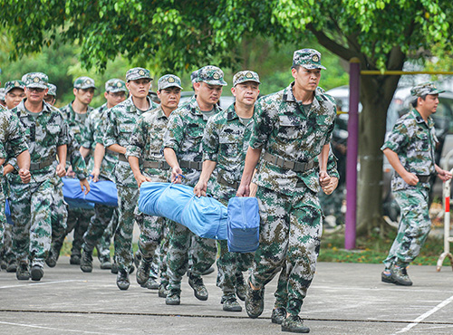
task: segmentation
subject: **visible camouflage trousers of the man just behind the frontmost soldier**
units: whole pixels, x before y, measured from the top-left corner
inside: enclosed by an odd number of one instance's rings
[[[230,253],[226,240],[217,241],[217,247],[220,253],[217,259],[217,287],[228,295],[235,292],[236,274],[252,266],[254,254]]]

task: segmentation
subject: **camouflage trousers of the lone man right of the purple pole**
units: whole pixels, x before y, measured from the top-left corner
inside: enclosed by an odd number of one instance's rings
[[[409,265],[419,255],[431,229],[428,189],[401,190],[393,192],[393,196],[401,209],[400,225],[389,255],[383,262],[386,268],[393,263],[402,267]]]

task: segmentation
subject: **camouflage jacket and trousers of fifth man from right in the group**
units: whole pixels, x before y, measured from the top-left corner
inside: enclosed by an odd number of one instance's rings
[[[158,107],[149,98],[149,109]],[[145,111],[148,111],[145,110]],[[130,135],[143,112],[138,110],[132,96],[121,102],[111,110],[107,110],[107,123],[104,133],[103,144],[106,148],[113,144],[119,144],[127,148]],[[134,209],[139,199],[139,189],[130,169],[129,162],[124,155],[119,156],[114,170],[118,189],[119,225],[115,232],[114,245],[115,257],[119,269],[126,272],[132,265],[132,230],[134,224]]]

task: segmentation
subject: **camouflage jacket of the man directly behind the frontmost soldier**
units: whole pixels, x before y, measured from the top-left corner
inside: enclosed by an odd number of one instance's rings
[[[228,184],[240,182],[253,119],[247,124],[236,114],[235,104],[207,121],[203,135],[203,160],[217,162],[217,176]]]

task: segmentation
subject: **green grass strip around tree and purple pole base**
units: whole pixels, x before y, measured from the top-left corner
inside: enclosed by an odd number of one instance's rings
[[[391,230],[385,237],[380,235],[361,236],[357,238],[356,249],[344,249],[344,233],[323,235],[319,262],[337,263],[382,263],[389,253],[390,246],[397,232]],[[439,237],[429,236],[421,248],[419,257],[414,265],[436,265],[439,255],[443,253],[443,240]],[[448,263],[448,262],[447,262]]]

